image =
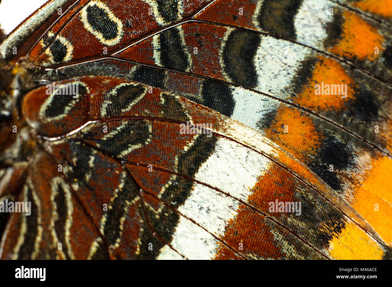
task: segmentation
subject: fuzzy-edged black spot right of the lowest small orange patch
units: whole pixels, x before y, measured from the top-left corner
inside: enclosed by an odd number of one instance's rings
[[[341,180],[336,175],[336,171],[347,168],[352,160],[352,152],[348,148],[348,144],[339,141],[333,135],[325,135],[323,143],[316,153],[319,156],[308,164],[309,168],[332,189],[339,190]],[[329,171],[330,164],[334,166],[334,171]]]

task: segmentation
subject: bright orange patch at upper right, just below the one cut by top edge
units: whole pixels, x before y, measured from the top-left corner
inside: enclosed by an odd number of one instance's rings
[[[376,59],[378,54],[374,54],[374,48],[378,47],[381,53],[383,36],[360,16],[345,12],[343,18],[345,19],[342,25],[343,38],[330,49],[330,52],[350,58],[356,56],[361,61]]]

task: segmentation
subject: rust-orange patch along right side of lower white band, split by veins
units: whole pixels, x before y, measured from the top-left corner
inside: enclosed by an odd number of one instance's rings
[[[292,175],[281,166],[274,164],[263,176],[258,177],[258,181],[252,188],[252,195],[247,201],[251,206],[273,217],[277,214],[269,213],[269,202],[275,202],[276,199],[278,201],[294,201],[295,188]],[[237,212],[236,217],[229,220],[223,240],[237,250],[242,250],[240,252],[252,257],[256,255],[261,258],[280,259],[284,255],[285,249],[275,244],[277,239],[270,232],[271,226],[265,221],[264,215],[247,208],[245,205],[239,206]],[[287,235],[279,227],[276,228],[283,237]],[[232,258],[235,258],[232,252],[220,244],[215,259]]]

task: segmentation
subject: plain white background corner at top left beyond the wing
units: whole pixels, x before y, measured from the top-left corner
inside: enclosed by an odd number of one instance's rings
[[[2,0],[0,24],[8,34],[47,0]]]

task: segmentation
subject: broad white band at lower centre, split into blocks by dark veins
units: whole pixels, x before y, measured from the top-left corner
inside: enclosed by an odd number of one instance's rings
[[[220,138],[212,155],[204,162],[195,179],[247,201],[251,189],[271,162],[259,153],[229,139]],[[171,242],[174,249],[189,259],[209,259],[216,255],[218,240],[233,219],[240,202],[219,191],[195,183],[178,211],[181,217]]]

